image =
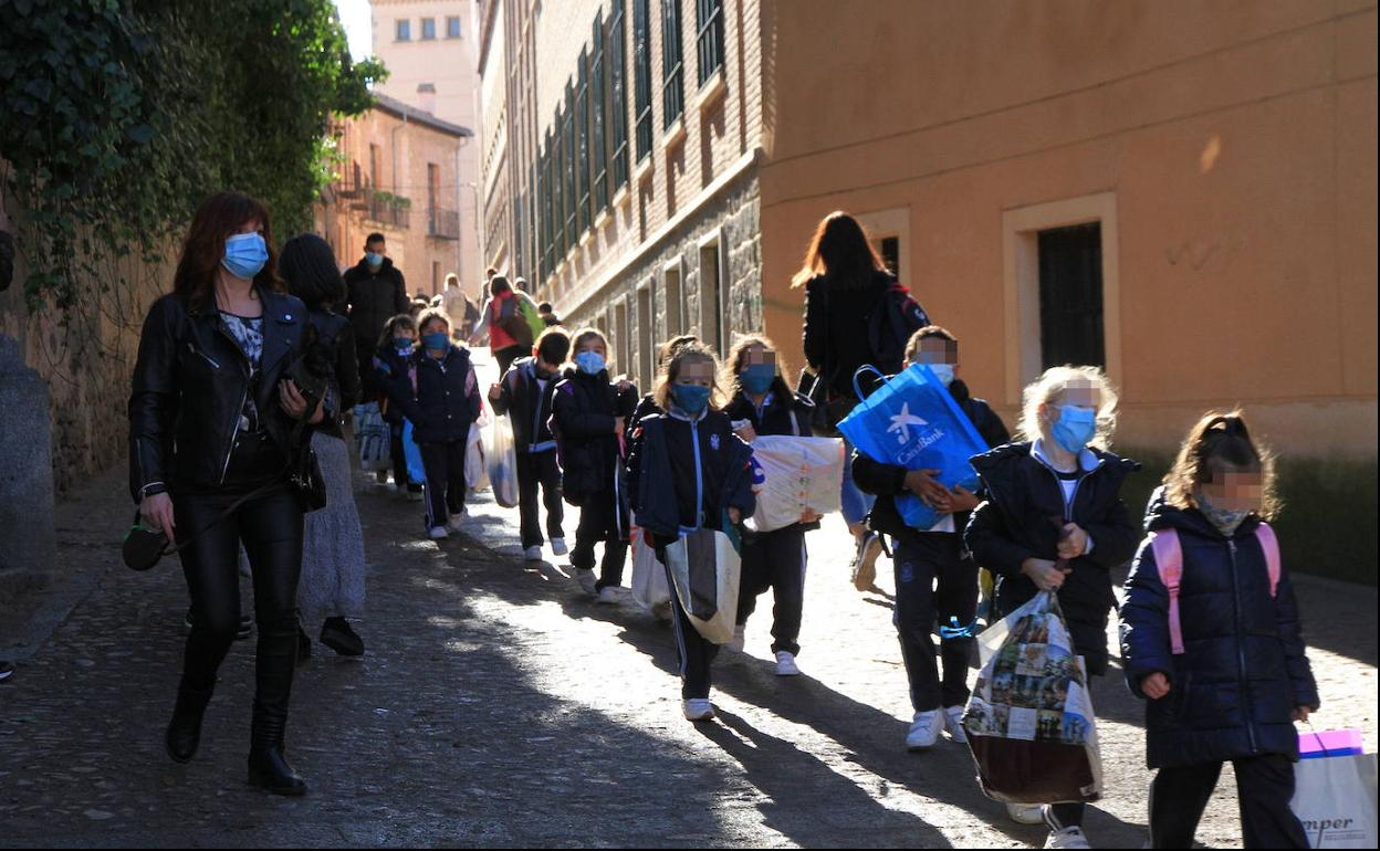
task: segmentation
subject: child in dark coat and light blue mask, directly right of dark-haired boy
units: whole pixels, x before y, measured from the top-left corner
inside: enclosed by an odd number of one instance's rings
[[[552,432],[560,441],[562,488],[566,502],[580,508],[570,565],[586,593],[606,605],[618,603],[628,557],[628,494],[624,492],[624,434],[638,403],[627,378],[610,381],[609,342],[593,328],[575,334],[570,350],[575,368],[556,385],[551,403]],[[603,563],[595,581],[595,545],[603,542]]]

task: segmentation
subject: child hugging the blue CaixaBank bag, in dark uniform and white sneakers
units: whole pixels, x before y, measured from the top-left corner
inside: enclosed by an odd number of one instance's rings
[[[938,326],[920,328],[905,346],[905,361],[929,366],[936,378],[948,385],[954,401],[989,448],[1010,440],[1002,418],[985,401],[973,399],[967,385],[958,378],[958,338]],[[861,452],[853,454],[853,480],[862,492],[876,494],[868,514],[869,528],[891,535],[896,546],[891,559],[896,568],[894,621],[915,712],[905,746],[909,750],[931,748],[941,730],[955,742],[967,742],[959,719],[969,698],[973,639],[941,633],[941,674],[930,636],[936,621],[941,628],[951,628],[954,621],[967,626],[977,617],[977,564],[963,546],[962,532],[978,498],[963,488],[948,492],[923,470],[879,463]],[[943,520],[927,530],[908,527],[896,509],[896,498],[903,494],[933,495]]]

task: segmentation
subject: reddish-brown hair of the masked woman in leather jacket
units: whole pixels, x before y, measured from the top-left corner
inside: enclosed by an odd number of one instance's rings
[[[218,192],[196,208],[186,241],[182,243],[177,274],[172,276],[172,292],[193,308],[206,306],[215,291],[215,270],[225,258],[225,240],[239,233],[246,222],[255,221],[268,244],[268,262],[254,276],[254,283],[265,290],[284,292],[287,287],[277,276],[268,207],[240,192]]]

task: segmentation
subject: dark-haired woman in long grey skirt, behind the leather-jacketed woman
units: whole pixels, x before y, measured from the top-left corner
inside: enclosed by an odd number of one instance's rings
[[[308,361],[328,375],[326,407],[344,412],[359,400],[359,367],[349,321],[331,312],[345,292],[335,255],[326,240],[304,233],[287,240],[277,263],[293,295],[306,305],[315,341]],[[351,487],[351,458],[339,417],[323,419],[312,434],[312,448],[326,480],[326,508],[306,514],[302,579],[297,603],[302,623],[322,623],[322,644],[342,657],[359,657],[364,641],[349,618],[364,614],[364,534]],[[310,655],[312,641],[298,628],[298,658]]]

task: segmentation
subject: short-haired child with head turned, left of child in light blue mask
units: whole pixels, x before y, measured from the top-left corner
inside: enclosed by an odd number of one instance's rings
[[[564,502],[560,487],[560,462],[556,437],[551,433],[552,397],[560,381],[560,367],[570,354],[570,337],[560,328],[549,330],[537,341],[531,357],[513,361],[502,379],[489,388],[494,414],[512,421],[518,444],[518,508],[523,559],[541,561],[541,523],[538,501],[546,506],[546,534],[551,552],[564,556]],[[540,491],[540,492],[538,492]]]

